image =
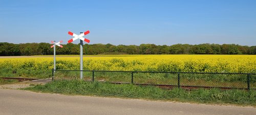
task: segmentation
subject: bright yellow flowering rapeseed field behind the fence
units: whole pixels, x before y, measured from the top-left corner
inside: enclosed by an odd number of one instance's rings
[[[256,73],[256,55],[95,55],[84,70]],[[56,68],[79,70],[79,56],[57,56]],[[0,58],[0,69],[51,70],[53,57]]]

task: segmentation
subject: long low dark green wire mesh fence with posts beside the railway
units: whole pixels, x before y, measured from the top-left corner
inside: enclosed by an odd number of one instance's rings
[[[80,79],[81,70],[52,70],[53,79]],[[256,73],[83,70],[83,80],[155,85],[160,88],[256,90]]]

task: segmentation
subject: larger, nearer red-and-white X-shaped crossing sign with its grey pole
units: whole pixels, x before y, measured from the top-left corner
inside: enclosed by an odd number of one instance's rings
[[[84,33],[80,33],[80,35],[76,35],[76,34],[74,34],[72,32],[68,32],[69,35],[74,37],[74,38],[70,39],[68,41],[68,43],[71,43],[71,42],[73,42],[73,41],[75,41],[77,39],[80,39],[80,79],[82,79],[82,63],[83,63],[83,61],[82,61],[82,45],[83,45],[82,41],[90,43],[90,40],[88,40],[86,38],[83,38],[83,36],[85,36],[85,35],[87,35],[89,33],[90,33],[90,31],[86,31]]]

